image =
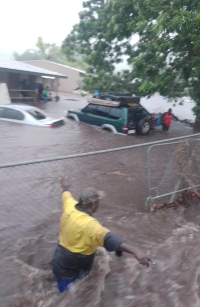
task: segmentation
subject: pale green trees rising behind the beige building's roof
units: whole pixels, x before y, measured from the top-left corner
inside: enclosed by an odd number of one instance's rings
[[[88,67],[79,54],[77,54],[73,61],[70,61],[66,58],[60,46],[57,46],[55,43],[44,43],[42,37],[38,37],[36,47],[37,49],[27,49],[22,54],[13,52],[14,59],[18,61],[48,60],[83,70]]]

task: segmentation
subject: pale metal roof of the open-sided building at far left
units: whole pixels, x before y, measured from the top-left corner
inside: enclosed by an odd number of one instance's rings
[[[26,73],[29,75],[37,75],[37,76],[68,78],[67,76],[59,74],[58,72],[52,72],[50,70],[30,65],[25,62],[12,60],[4,56],[0,56],[0,71]]]

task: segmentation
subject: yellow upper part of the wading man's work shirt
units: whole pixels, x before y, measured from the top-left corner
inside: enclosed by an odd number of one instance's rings
[[[110,232],[93,216],[77,208],[77,200],[70,192],[62,194],[63,213],[60,219],[59,244],[73,253],[91,255]]]

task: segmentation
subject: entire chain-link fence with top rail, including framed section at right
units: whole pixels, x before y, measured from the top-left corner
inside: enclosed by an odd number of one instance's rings
[[[86,186],[104,189],[110,208],[117,203],[122,213],[125,206],[142,211],[147,196],[147,209],[152,202],[172,201],[177,191],[200,185],[197,136],[0,165],[1,239],[7,239],[8,233],[15,238],[61,209],[59,177],[63,174],[72,177],[76,197]],[[146,146],[150,145],[146,161]]]

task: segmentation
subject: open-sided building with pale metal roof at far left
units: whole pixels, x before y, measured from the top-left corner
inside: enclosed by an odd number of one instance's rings
[[[58,72],[0,56],[0,83],[7,84],[11,101],[35,100],[39,83],[44,87],[48,86],[51,92],[58,95],[61,78],[67,79],[68,77]],[[22,86],[22,84],[25,85]],[[23,92],[26,92],[28,96],[23,97]]]

